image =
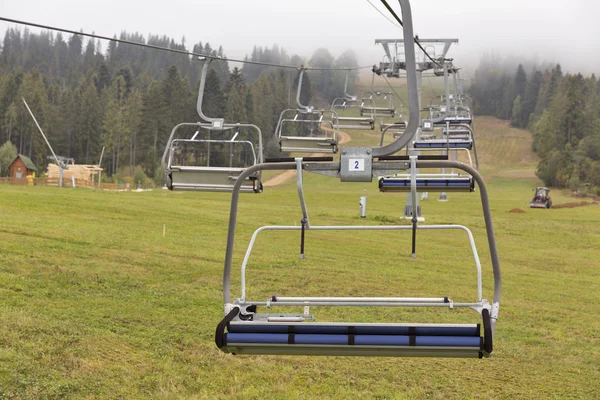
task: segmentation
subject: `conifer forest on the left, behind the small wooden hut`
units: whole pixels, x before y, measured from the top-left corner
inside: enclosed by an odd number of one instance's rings
[[[122,32],[120,39],[186,50],[185,38]],[[225,57],[222,47],[192,46],[194,53]],[[289,56],[278,46],[255,47],[246,61],[320,67],[356,66],[352,51],[337,59],[318,49],[310,59]],[[196,122],[200,64],[182,54],[109,42],[79,35],[8,29],[0,49],[0,146],[10,142],[39,171],[48,164],[43,138],[21,98],[34,112],[57,155],[97,164],[105,149],[105,176],[121,179],[136,171],[162,183],[160,158],[168,136],[181,122]],[[303,104],[326,106],[343,94],[345,73],[305,75]],[[357,80],[353,72],[350,88]],[[268,155],[278,153],[274,131],[280,113],[295,108],[298,73],[293,69],[244,63],[230,69],[213,61],[207,74],[203,111],[226,122],[260,127]],[[313,100],[314,99],[314,100]],[[5,146],[6,147],[6,146]],[[8,148],[8,147],[6,147]],[[2,166],[0,166],[2,167]],[[0,175],[6,175],[6,168]]]

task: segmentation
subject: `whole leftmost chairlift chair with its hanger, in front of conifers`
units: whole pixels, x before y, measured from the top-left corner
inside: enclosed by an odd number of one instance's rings
[[[228,124],[202,112],[211,61],[202,66],[198,91],[197,111],[204,122],[178,124],[167,140],[162,167],[166,186],[171,190],[231,192],[248,167],[263,162],[262,133],[256,125]],[[260,193],[260,173],[248,176],[241,191]]]

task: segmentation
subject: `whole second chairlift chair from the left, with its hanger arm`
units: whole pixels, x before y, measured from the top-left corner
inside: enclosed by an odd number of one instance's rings
[[[336,153],[339,142],[338,115],[332,110],[316,110],[300,102],[304,68],[300,70],[296,94],[297,109],[284,110],[275,135],[281,151]]]

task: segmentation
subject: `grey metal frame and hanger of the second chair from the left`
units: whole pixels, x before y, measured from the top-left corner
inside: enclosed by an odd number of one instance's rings
[[[307,153],[337,153],[339,142],[339,120],[338,115],[332,110],[315,110],[312,106],[305,106],[300,101],[300,93],[302,91],[302,78],[305,68],[300,68],[300,76],[298,78],[298,88],[296,91],[297,109],[284,110],[279,116],[275,135],[279,141],[281,151],[307,152]],[[319,117],[317,120],[298,119],[299,115],[311,115]],[[284,134],[286,123],[315,123],[318,125],[327,124],[329,126],[317,128],[320,131],[327,132],[321,136],[290,136]]]

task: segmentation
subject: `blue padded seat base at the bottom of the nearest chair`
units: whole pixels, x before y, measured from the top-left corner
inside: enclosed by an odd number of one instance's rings
[[[488,310],[483,324],[461,325],[237,321],[236,310],[217,326],[226,353],[482,358],[493,348]]]

